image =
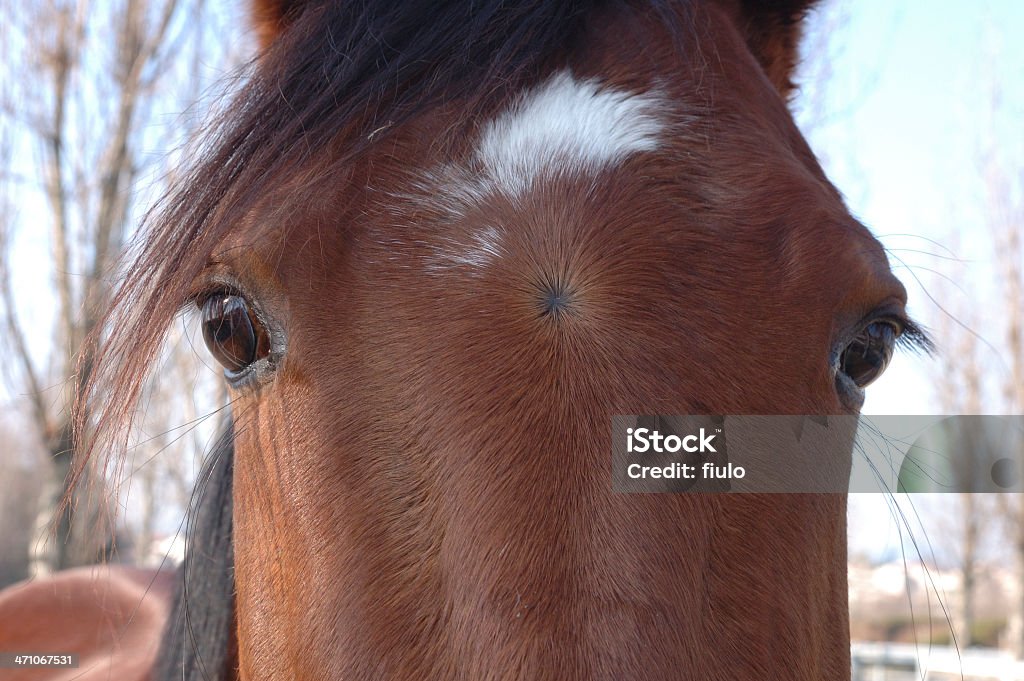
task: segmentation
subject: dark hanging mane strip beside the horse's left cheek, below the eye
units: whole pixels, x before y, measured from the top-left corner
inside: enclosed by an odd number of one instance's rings
[[[210,453],[193,495],[185,559],[175,574],[154,679],[215,681],[228,676],[234,606],[232,464],[228,428]]]

